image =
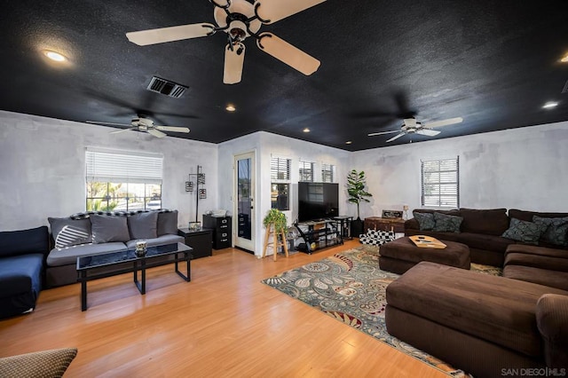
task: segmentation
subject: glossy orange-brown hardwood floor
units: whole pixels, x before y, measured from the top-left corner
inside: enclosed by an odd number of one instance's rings
[[[75,346],[66,377],[420,376],[446,377],[260,280],[339,250],[257,259],[239,249],[147,273],[146,295],[130,274],[44,290],[36,311],[0,321],[0,357]]]

